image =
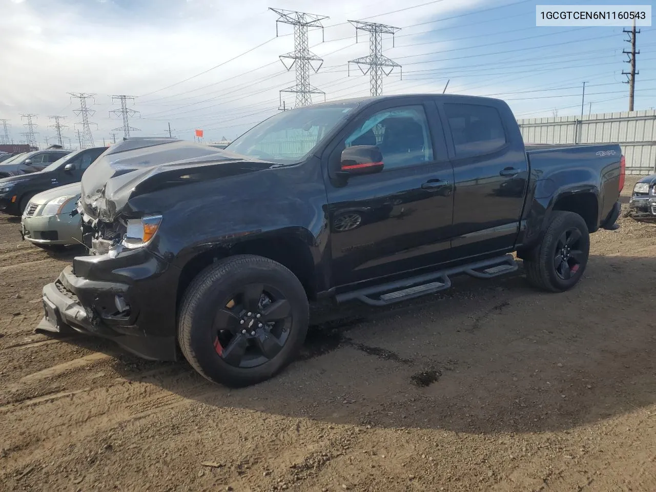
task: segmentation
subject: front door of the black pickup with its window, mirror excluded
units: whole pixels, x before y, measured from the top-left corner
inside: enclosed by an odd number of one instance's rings
[[[382,171],[350,176],[345,183],[331,177],[342,150],[352,145],[378,146]],[[380,279],[448,259],[453,170],[430,100],[395,98],[365,108],[323,158],[329,170],[333,285]]]

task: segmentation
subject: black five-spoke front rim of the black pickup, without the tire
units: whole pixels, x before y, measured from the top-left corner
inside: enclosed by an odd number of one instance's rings
[[[234,367],[256,367],[279,354],[293,318],[289,300],[271,285],[249,283],[216,311],[216,353]]]

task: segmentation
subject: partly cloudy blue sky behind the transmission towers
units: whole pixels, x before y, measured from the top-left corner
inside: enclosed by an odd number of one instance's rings
[[[310,83],[325,100],[369,94],[369,75],[348,63],[369,54],[369,34],[359,31],[356,43],[348,22],[364,20],[400,28],[394,39],[384,35],[384,55],[401,68],[384,77],[383,94],[442,92],[448,81],[450,93],[506,100],[518,118],[549,117],[580,114],[586,82],[585,114],[628,110],[623,28],[536,27],[535,5],[543,3],[0,0],[0,119],[9,120],[9,137],[19,143],[22,115],[35,114],[43,147],[55,142],[49,116],[63,116],[64,144],[77,148],[79,100],[69,93],[95,94],[87,106],[99,145],[123,137],[121,117],[110,113],[120,108],[112,96],[123,94],[134,96],[132,136],[168,136],[170,124],[178,138],[191,140],[195,129],[205,142],[235,138],[281,102],[295,104],[293,94],[279,93],[295,85],[295,68],[287,71],[279,59],[294,51],[293,26],[277,24],[270,7],[326,17],[323,33],[308,33],[311,51],[323,58]],[[636,110],[656,107],[654,29],[637,37]]]

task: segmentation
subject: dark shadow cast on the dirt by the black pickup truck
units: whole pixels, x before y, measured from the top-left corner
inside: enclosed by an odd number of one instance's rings
[[[656,401],[655,271],[656,258],[591,256],[568,293],[535,291],[518,275],[457,278],[391,308],[324,308],[300,359],[242,389],[185,362],[142,361],[109,342],[101,350],[119,354],[126,379],[217,407],[395,428],[562,430]]]

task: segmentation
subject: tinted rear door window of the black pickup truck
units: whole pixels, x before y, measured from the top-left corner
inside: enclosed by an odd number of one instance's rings
[[[445,104],[456,157],[489,154],[506,144],[501,115],[492,106]]]

